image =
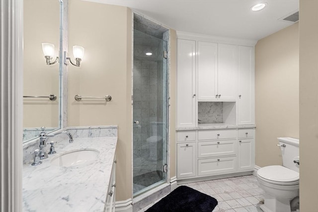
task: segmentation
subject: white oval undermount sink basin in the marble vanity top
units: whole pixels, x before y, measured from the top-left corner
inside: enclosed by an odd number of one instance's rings
[[[60,167],[86,166],[91,164],[98,155],[97,149],[77,149],[53,158],[51,164]]]

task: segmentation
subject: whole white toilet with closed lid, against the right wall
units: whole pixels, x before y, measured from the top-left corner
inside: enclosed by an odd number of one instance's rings
[[[265,166],[257,171],[259,186],[265,191],[264,205],[260,206],[264,212],[291,212],[290,201],[299,196],[299,140],[278,141],[283,166]]]

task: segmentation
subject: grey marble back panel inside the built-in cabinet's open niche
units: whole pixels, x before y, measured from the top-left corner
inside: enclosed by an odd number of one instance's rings
[[[198,102],[199,124],[223,123],[223,102]]]

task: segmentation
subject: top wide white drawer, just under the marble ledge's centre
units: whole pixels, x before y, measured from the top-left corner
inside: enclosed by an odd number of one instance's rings
[[[198,132],[198,140],[236,139],[236,130],[207,130]]]

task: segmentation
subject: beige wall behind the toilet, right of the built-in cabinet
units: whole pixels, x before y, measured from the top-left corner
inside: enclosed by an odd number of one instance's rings
[[[255,163],[282,164],[278,137],[299,138],[299,24],[255,46]]]

